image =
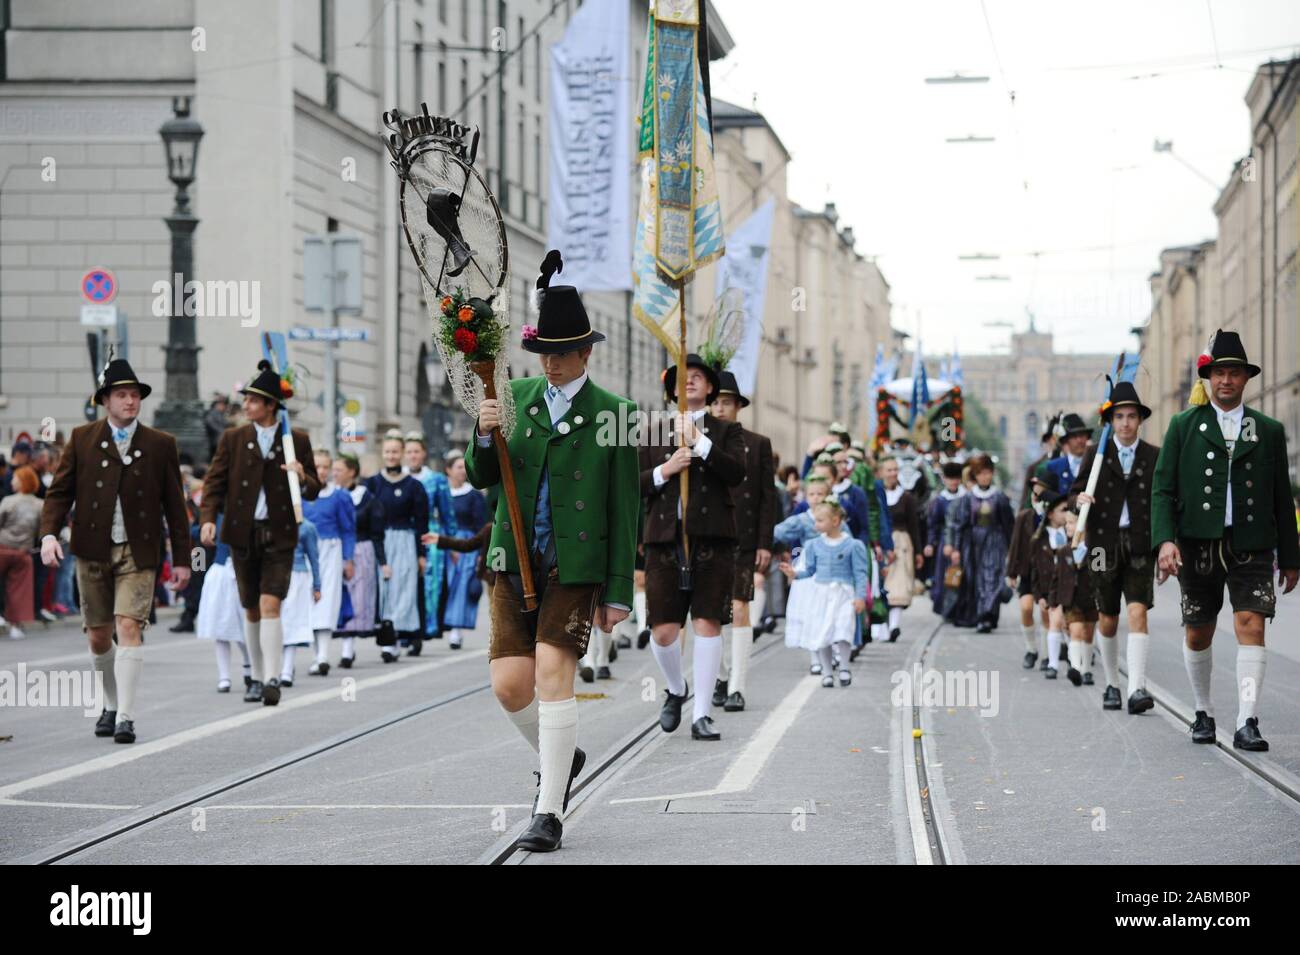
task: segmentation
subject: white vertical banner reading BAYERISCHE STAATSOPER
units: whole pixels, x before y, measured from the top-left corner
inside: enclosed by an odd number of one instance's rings
[[[630,4],[590,0],[551,47],[546,243],[559,281],[632,288]]]

